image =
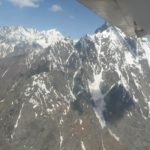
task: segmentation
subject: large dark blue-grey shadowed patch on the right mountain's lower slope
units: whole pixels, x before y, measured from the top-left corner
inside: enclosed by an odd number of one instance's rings
[[[123,85],[115,85],[105,96],[104,101],[106,105],[103,115],[105,121],[109,123],[122,119],[134,106],[132,97]]]

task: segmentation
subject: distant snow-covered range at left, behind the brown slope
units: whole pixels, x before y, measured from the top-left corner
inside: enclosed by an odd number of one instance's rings
[[[68,42],[56,29],[38,31],[22,26],[0,27],[0,57],[24,54],[31,49],[45,49],[60,41]]]

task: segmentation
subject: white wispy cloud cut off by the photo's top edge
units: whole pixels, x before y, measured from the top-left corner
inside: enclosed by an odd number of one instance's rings
[[[13,5],[18,6],[18,7],[39,7],[39,2],[41,0],[8,0],[11,2]]]

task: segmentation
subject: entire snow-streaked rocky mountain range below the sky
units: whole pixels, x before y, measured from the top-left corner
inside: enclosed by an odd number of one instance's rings
[[[150,43],[103,26],[0,29],[1,150],[147,150]]]

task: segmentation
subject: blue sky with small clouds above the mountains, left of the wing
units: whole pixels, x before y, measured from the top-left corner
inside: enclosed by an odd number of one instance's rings
[[[0,0],[0,26],[55,28],[65,36],[79,38],[103,23],[77,0]]]

